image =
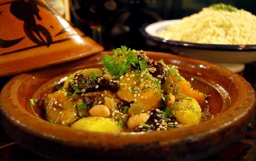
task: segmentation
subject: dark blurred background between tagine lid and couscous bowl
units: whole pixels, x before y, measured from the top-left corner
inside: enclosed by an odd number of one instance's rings
[[[180,19],[214,3],[226,3],[256,14],[255,0],[47,0],[85,34],[111,50],[120,45],[167,51],[145,40],[140,30],[160,20]]]

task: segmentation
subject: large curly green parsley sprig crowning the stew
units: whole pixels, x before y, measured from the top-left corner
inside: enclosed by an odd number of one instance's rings
[[[131,48],[126,46],[121,46],[121,48],[116,48],[113,50],[114,55],[104,55],[102,58],[102,63],[108,72],[112,76],[120,77],[125,73],[128,73],[128,69],[131,68],[131,64],[136,66],[138,62],[136,52],[132,51]],[[122,55],[118,55],[122,54]]]

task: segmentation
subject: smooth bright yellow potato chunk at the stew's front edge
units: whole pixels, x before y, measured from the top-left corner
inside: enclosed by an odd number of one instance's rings
[[[119,132],[121,130],[121,127],[116,122],[103,117],[82,118],[72,124],[71,128],[101,132]]]

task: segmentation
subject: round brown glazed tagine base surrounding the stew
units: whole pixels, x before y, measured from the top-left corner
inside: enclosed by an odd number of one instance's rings
[[[208,62],[147,52],[179,68],[193,88],[210,95],[213,119],[196,125],[149,133],[73,130],[44,120],[42,102],[64,77],[78,69],[102,67],[102,54],[15,76],[0,94],[6,132],[20,146],[54,160],[135,159],[193,161],[239,141],[254,113],[255,91],[241,76]],[[31,107],[29,99],[38,99]]]

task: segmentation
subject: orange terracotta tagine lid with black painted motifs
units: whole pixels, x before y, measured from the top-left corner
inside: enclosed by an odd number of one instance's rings
[[[0,77],[103,51],[44,0],[1,0],[0,22]]]

